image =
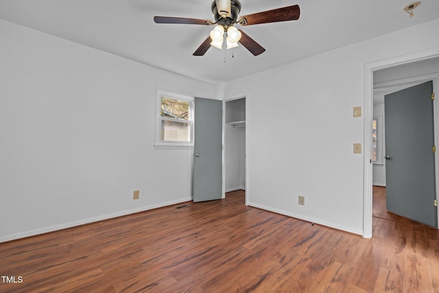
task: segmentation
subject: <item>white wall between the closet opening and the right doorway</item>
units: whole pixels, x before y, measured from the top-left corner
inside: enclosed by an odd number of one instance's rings
[[[364,117],[353,107],[364,106],[365,65],[436,49],[438,34],[431,21],[226,84],[226,98],[249,101],[248,203],[362,235],[365,160],[353,143],[365,147]]]

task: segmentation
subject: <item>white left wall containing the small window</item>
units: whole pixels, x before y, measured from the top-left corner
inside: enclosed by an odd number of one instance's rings
[[[213,86],[1,20],[0,39],[0,242],[191,198],[192,150],[154,150],[155,91]]]

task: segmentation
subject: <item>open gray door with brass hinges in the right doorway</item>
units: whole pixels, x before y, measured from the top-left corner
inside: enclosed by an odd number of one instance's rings
[[[437,227],[432,92],[425,82],[385,95],[385,182],[388,211]]]

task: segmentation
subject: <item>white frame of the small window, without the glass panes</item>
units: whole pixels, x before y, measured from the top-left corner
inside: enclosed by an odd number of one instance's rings
[[[189,132],[190,132],[190,141],[163,141],[161,139],[161,123],[162,120],[169,121],[179,121],[178,119],[172,119],[169,117],[161,116],[161,99],[162,97],[167,97],[169,99],[178,99],[180,101],[189,102],[189,119],[181,120],[185,123],[189,124]],[[178,95],[176,93],[170,93],[168,91],[163,91],[161,89],[156,89],[156,129],[155,129],[155,139],[154,139],[154,148],[174,148],[174,149],[193,149],[193,110],[194,110],[194,98],[189,97],[187,95]]]

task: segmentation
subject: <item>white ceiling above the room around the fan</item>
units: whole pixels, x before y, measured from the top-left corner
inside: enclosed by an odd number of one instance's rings
[[[240,16],[289,5],[300,19],[237,27],[266,51],[244,47],[193,51],[212,29],[204,25],[156,24],[154,16],[214,21],[213,0],[0,0],[0,19],[206,82],[226,82],[337,47],[439,18],[438,0],[241,0]],[[410,41],[410,36],[407,36]]]

